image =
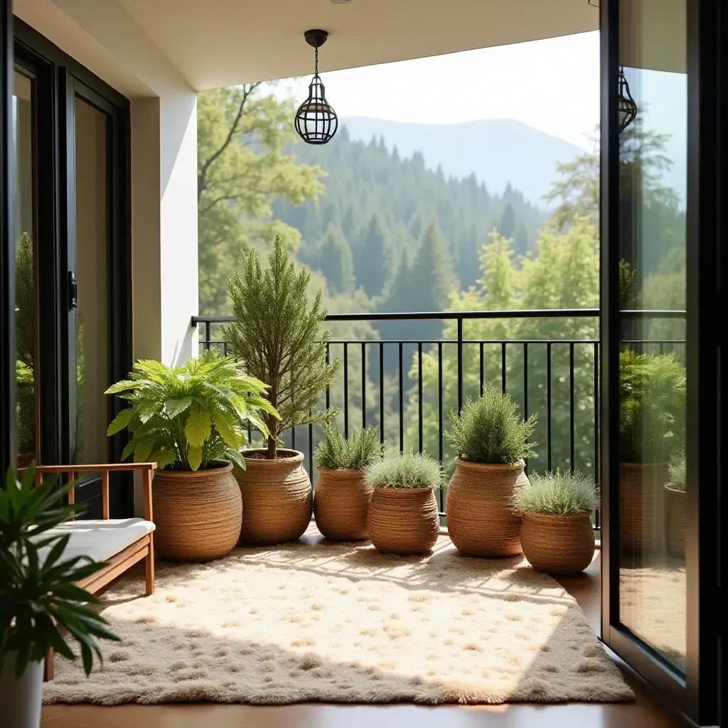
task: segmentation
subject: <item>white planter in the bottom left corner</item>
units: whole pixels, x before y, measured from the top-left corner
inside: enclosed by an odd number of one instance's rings
[[[0,657],[0,706],[3,728],[38,728],[43,697],[43,660],[28,662],[15,678],[15,653]]]

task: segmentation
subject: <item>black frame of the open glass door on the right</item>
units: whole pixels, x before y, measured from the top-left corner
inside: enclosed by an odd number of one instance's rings
[[[617,74],[619,1],[601,0],[601,486],[602,638],[698,724],[719,721],[721,671],[720,538],[726,478],[722,457],[728,381],[724,317],[726,240],[725,9],[720,0],[688,2],[687,172],[687,661],[681,675],[620,624],[618,534],[620,295]],[[722,57],[721,57],[721,41]],[[721,85],[722,84],[722,87]],[[722,161],[722,167],[721,167]],[[721,205],[722,202],[722,205]],[[722,238],[721,238],[722,236]],[[717,324],[717,325],[716,325]],[[721,427],[723,424],[723,427]],[[722,511],[721,511],[722,507]],[[725,680],[725,677],[722,676]]]

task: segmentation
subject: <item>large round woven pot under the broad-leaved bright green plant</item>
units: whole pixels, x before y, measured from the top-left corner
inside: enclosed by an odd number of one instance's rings
[[[197,472],[157,470],[151,488],[154,548],[175,561],[209,561],[240,537],[242,499],[232,465]]]

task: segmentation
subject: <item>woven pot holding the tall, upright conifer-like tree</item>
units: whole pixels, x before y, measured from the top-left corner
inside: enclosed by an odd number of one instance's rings
[[[242,493],[240,540],[257,545],[300,538],[311,523],[313,494],[304,454],[279,450],[278,459],[258,459],[265,450],[247,450],[246,470],[235,469]]]

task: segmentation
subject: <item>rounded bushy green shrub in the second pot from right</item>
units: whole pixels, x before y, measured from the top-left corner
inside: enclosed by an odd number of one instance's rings
[[[535,416],[523,422],[518,405],[500,389],[486,385],[479,400],[467,400],[462,412],[450,413],[447,433],[458,456],[469,462],[510,464],[533,456],[529,437]]]

